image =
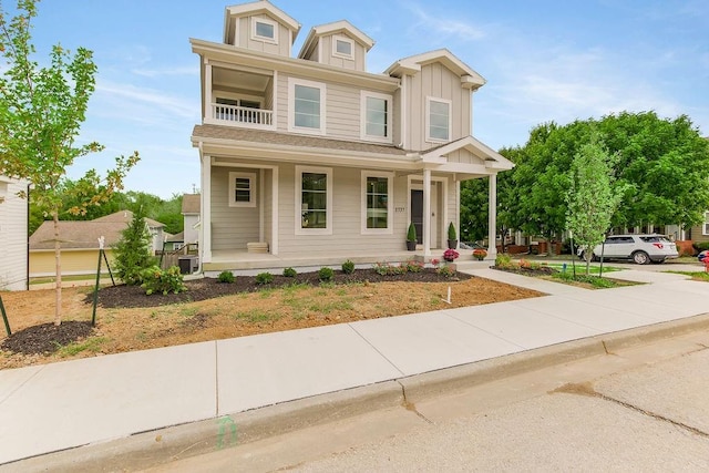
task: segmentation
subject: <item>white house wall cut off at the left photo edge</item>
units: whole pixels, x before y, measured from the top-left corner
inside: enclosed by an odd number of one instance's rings
[[[25,183],[0,175],[0,290],[28,288],[28,192]]]

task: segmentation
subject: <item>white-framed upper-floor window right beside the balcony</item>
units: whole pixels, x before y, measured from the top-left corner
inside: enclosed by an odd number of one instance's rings
[[[291,78],[288,90],[288,131],[325,134],[325,84]]]

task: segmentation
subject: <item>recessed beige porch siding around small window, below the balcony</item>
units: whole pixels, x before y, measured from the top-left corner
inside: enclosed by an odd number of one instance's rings
[[[256,173],[256,206],[229,207],[229,172]],[[212,168],[212,248],[246,249],[246,244],[258,241],[259,189],[258,171],[253,168]]]

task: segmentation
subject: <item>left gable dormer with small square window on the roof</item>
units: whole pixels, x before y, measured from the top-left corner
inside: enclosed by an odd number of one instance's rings
[[[224,43],[289,58],[300,23],[268,0],[227,7]]]

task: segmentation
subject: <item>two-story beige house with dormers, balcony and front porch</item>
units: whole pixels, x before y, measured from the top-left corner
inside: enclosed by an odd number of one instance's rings
[[[471,135],[485,80],[445,49],[367,72],[374,41],[347,21],[300,24],[268,1],[226,8],[201,58],[199,253],[206,273],[440,258],[460,183],[513,164]],[[419,247],[405,251],[409,223]]]

